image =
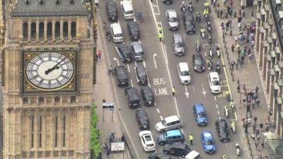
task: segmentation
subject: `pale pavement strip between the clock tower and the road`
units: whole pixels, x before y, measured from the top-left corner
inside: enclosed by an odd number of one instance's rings
[[[98,37],[98,49],[103,50],[101,44],[101,38]],[[102,51],[105,53],[105,51]],[[114,105],[114,112],[112,113],[111,110],[105,109],[104,110],[104,121],[103,121],[103,108],[102,108],[102,101],[105,99],[107,102],[114,102],[114,95],[112,91],[112,85],[110,84],[110,78],[107,73],[108,64],[105,54],[102,55],[102,60],[97,62],[96,65],[96,85],[94,86],[94,102],[96,102],[97,109],[96,112],[98,114],[98,129],[100,130],[100,143],[107,143],[108,147],[110,147],[110,143],[108,140],[108,134],[111,131],[115,132],[115,139],[120,139],[122,136],[122,126],[120,124],[120,119],[117,109],[117,105]],[[125,145],[125,154],[123,153],[110,153],[109,158],[111,159],[128,159],[127,155],[127,146]],[[104,152],[102,158],[108,158],[106,153]]]

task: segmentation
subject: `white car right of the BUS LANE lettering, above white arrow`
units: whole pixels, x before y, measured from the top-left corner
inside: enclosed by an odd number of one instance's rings
[[[184,85],[191,83],[190,70],[187,62],[180,62],[177,66],[180,82]]]

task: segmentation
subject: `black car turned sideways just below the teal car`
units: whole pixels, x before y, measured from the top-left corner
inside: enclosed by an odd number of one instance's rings
[[[185,143],[171,143],[163,147],[163,153],[184,157],[190,153],[190,148]]]

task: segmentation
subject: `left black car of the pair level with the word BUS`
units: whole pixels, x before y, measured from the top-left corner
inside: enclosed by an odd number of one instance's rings
[[[120,87],[129,86],[129,78],[127,74],[127,69],[125,66],[117,66],[115,67],[115,73],[117,75],[117,85]]]

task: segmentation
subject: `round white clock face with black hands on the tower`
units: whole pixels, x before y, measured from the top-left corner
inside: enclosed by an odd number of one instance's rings
[[[25,75],[36,88],[55,90],[71,81],[74,76],[74,65],[64,54],[44,52],[28,61]]]

